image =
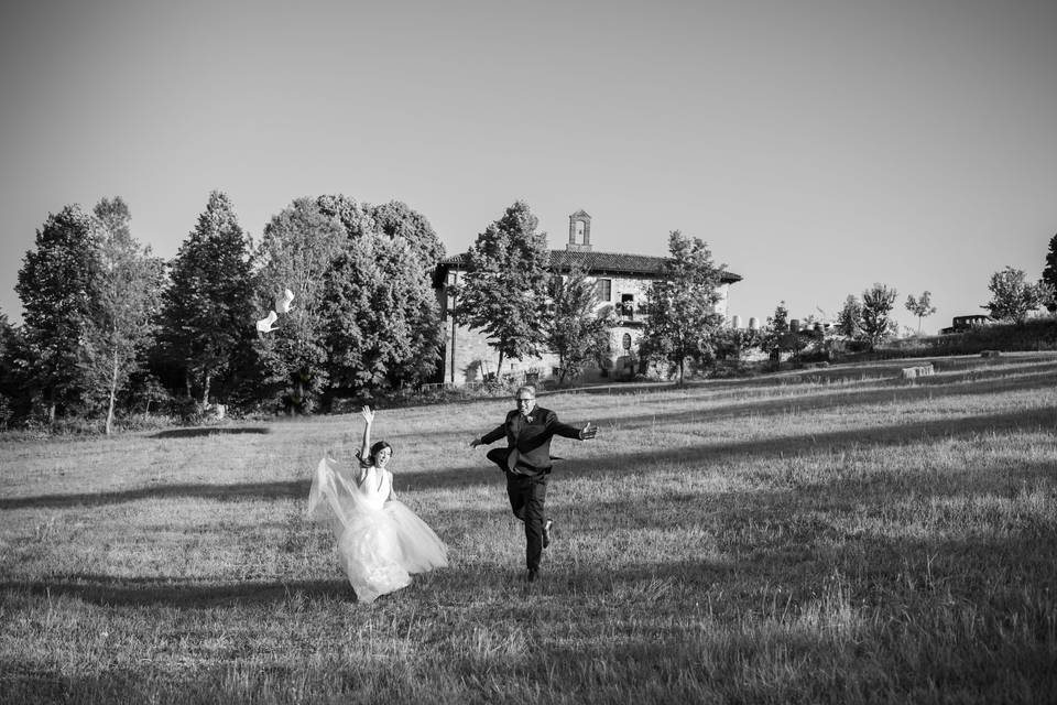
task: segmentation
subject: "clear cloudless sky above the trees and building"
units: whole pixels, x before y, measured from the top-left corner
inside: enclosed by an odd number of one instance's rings
[[[0,9],[0,312],[50,214],[121,196],[172,258],[209,192],[403,200],[449,253],[515,200],[552,248],[743,280],[831,318],[873,283],[924,332],[1037,280],[1057,234],[1054,0],[13,0]]]

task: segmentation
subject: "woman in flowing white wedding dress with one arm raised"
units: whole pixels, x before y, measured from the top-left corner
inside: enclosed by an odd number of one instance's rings
[[[448,565],[448,549],[406,505],[393,499],[393,474],[386,469],[393,448],[371,445],[374,412],[367,424],[359,464],[350,468],[324,457],[308,491],[308,516],[330,525],[338,562],[361,603],[372,603],[411,584],[412,573]]]

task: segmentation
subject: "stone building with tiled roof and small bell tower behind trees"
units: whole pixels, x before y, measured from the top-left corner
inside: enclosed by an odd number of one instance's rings
[[[455,296],[450,288],[461,281],[466,273],[466,256],[455,254],[442,260],[434,271],[433,286],[440,303],[445,326],[445,340],[440,373],[436,381],[457,386],[482,381],[486,376],[510,376],[514,379],[543,380],[558,373],[558,357],[545,354],[536,358],[503,361],[497,370],[499,355],[488,345],[482,333],[457,325],[451,315]],[[646,289],[661,278],[665,262],[663,257],[598,252],[591,245],[591,216],[577,210],[569,216],[569,240],[564,250],[551,250],[551,267],[568,272],[575,264],[584,269],[595,282],[599,308],[612,306],[617,325],[610,332],[610,354],[601,368],[588,369],[581,380],[620,378],[634,373],[638,366],[639,338],[646,323]],[[727,301],[730,285],[741,276],[723,272],[716,308],[728,317]]]

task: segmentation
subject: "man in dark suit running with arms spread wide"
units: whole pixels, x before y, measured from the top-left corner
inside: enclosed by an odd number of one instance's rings
[[[590,422],[582,429],[558,421],[549,409],[536,406],[536,392],[532,387],[522,387],[514,395],[517,409],[506,414],[506,420],[479,438],[470,447],[489,445],[506,436],[505,448],[492,448],[488,459],[506,475],[506,494],[514,516],[525,522],[525,562],[528,581],[536,579],[540,556],[551,543],[551,519],[544,519],[543,503],[547,496],[547,476],[551,473],[551,438],[563,436],[590,441],[598,426]]]

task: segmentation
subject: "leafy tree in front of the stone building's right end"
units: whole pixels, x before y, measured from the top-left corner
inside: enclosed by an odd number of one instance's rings
[[[682,384],[686,361],[700,364],[710,356],[712,338],[722,326],[723,317],[716,312],[722,300],[722,267],[712,263],[702,240],[686,238],[678,230],[668,236],[668,252],[662,279],[646,290],[643,346],[651,359],[677,368]]]

